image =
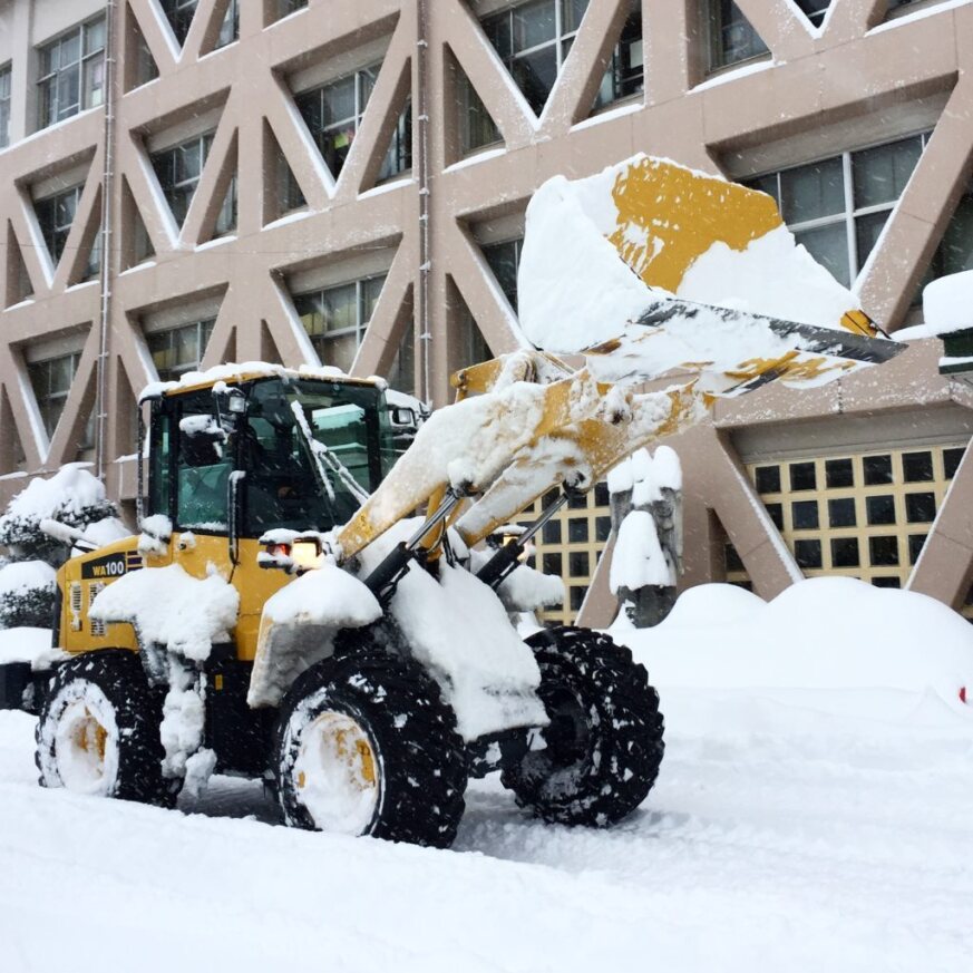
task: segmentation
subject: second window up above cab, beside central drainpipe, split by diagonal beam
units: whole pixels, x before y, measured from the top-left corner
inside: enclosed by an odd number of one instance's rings
[[[381,65],[361,68],[321,88],[303,91],[294,98],[311,137],[337,179],[354,142],[364,109],[378,79]],[[398,175],[412,167],[412,106],[406,104],[392,135],[392,144],[382,160],[379,179]]]

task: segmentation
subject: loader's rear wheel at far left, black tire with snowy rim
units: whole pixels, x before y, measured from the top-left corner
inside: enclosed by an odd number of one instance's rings
[[[40,785],[174,806],[182,781],[163,777],[162,714],[162,693],[149,688],[136,653],[105,649],[65,662],[37,722]],[[78,749],[87,753],[93,742],[100,760],[93,756],[90,766],[85,758],[70,766]]]

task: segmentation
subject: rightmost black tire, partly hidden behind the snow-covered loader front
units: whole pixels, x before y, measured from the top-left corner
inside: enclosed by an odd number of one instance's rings
[[[606,827],[645,799],[662,762],[659,693],[607,635],[552,629],[527,640],[551,726],[502,775],[517,804],[547,821]],[[536,741],[535,741],[536,745]]]

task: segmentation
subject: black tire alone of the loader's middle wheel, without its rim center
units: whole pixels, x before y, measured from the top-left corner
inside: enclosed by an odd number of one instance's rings
[[[347,718],[370,748],[376,794],[371,816],[317,819],[299,761],[313,746],[310,728]],[[324,659],[304,672],[281,704],[275,733],[274,791],[286,824],[448,848],[463,817],[468,777],[456,717],[439,687],[411,659],[367,650]],[[366,811],[368,814],[368,807]]]

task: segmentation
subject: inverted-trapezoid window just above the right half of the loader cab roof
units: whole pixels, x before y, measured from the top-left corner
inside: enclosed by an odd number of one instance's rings
[[[299,294],[294,307],[322,364],[348,372],[381,294],[385,275]]]

